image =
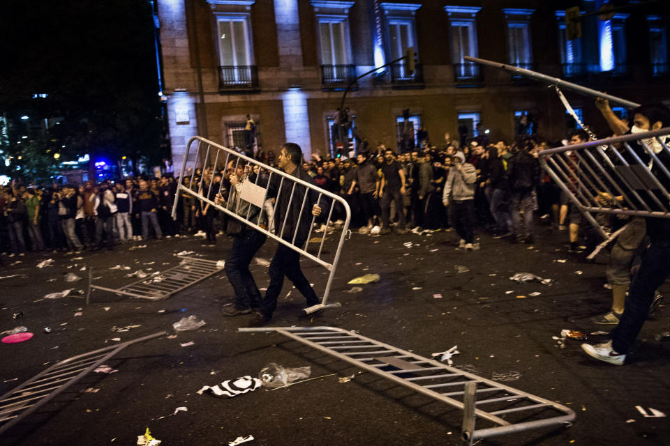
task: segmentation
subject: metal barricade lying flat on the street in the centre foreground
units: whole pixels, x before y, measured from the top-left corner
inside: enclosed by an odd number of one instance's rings
[[[574,421],[571,409],[498,381],[419,356],[336,327],[238,328],[277,332],[365,371],[463,410],[464,445],[505,433],[561,426]],[[484,423],[476,429],[477,423]],[[439,442],[436,442],[439,443]]]

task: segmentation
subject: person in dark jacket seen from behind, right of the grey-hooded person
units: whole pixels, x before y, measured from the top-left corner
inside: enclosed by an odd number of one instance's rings
[[[539,162],[528,153],[528,148],[521,148],[512,158],[507,169],[507,178],[512,187],[512,222],[517,241],[533,243],[533,213],[535,197],[533,190],[539,179]],[[521,211],[523,210],[523,234],[521,228]]]

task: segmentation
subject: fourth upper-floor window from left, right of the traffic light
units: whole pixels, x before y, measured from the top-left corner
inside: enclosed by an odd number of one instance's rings
[[[480,79],[479,65],[463,59],[477,57],[477,24],[475,15],[481,10],[472,6],[445,6],[449,16],[449,38],[452,40],[452,62],[456,81]]]

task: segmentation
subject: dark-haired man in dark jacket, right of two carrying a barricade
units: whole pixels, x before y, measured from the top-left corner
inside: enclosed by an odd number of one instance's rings
[[[281,146],[281,154],[277,162],[278,167],[306,183],[314,184],[311,176],[299,168],[301,161],[302,150],[300,146],[290,142]],[[315,190],[308,190],[307,187],[299,183],[293,183],[289,180],[281,182],[281,178],[273,179],[275,181],[269,185],[267,196],[276,199],[274,207],[276,234],[285,242],[303,248],[312,222],[311,215],[321,213],[321,208],[317,203],[318,193]],[[307,194],[306,199],[305,194]],[[277,308],[277,298],[281,293],[284,277],[288,277],[298,291],[305,296],[308,307],[320,302],[300,269],[299,252],[283,243],[279,243],[270,262],[269,277],[270,284],[267,286],[265,298],[260,302],[260,313],[249,324],[251,327],[261,327],[271,321],[272,314]]]

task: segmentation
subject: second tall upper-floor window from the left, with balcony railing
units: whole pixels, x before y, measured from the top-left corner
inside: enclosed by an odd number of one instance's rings
[[[356,70],[350,65],[349,8],[353,1],[312,1],[318,29],[323,84],[350,82]]]

